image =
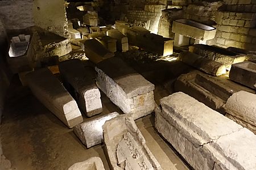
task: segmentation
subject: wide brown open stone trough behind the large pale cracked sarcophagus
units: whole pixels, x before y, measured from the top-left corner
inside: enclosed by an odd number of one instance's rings
[[[210,76],[201,71],[181,74],[174,84],[174,90],[182,91],[222,114],[225,113],[224,104],[235,92],[243,90],[255,93],[226,76]]]

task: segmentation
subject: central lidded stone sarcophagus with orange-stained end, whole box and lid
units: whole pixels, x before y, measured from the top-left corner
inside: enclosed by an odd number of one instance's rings
[[[154,111],[154,84],[127,66],[122,59],[105,59],[97,64],[96,71],[97,86],[134,120]]]

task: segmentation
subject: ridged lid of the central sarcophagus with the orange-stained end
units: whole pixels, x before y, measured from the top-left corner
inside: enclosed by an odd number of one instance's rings
[[[97,67],[112,78],[125,91],[128,98],[146,94],[155,89],[154,84],[148,82],[120,58],[105,59],[98,63]]]

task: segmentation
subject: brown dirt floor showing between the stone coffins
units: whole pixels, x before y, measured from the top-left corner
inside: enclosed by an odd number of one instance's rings
[[[123,57],[123,54],[122,54]],[[125,58],[124,58],[125,59]],[[126,58],[127,59],[127,58]],[[174,79],[191,68],[177,62],[130,62],[135,70],[155,84],[155,100],[170,94]],[[181,69],[182,68],[182,69]],[[170,87],[170,89],[168,89]],[[122,113],[103,93],[103,114]],[[94,118],[94,117],[93,117]],[[89,120],[84,116],[84,121]],[[136,121],[147,145],[163,169],[188,169],[173,148],[154,129],[154,113]],[[72,164],[100,156],[109,169],[104,145],[87,149],[72,129],[68,129],[23,87],[18,76],[13,78],[3,111],[0,129],[3,153],[13,169],[68,169]]]

